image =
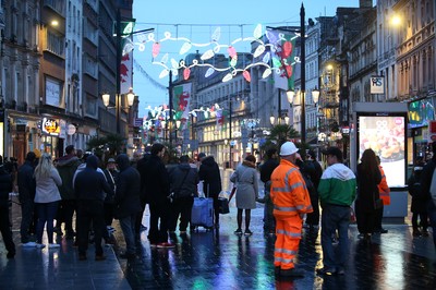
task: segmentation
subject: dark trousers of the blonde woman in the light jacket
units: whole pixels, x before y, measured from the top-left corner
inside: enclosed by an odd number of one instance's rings
[[[59,202],[35,204],[38,213],[38,225],[36,226],[36,241],[43,243],[44,226],[47,222],[47,240],[53,243],[53,219],[58,214]]]

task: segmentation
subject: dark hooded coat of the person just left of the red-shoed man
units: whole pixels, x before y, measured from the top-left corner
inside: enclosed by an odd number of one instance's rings
[[[124,218],[136,215],[141,208],[141,177],[140,172],[130,165],[129,156],[120,154],[117,156],[120,173],[117,179],[116,217]]]

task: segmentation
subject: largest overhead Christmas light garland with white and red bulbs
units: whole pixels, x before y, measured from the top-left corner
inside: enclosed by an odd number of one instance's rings
[[[161,45],[165,41],[183,41],[183,45],[181,46],[181,48],[179,50],[180,55],[187,53],[193,47],[198,47],[198,48],[211,47],[210,49],[207,49],[201,56],[202,61],[207,61],[207,60],[211,59],[215,55],[219,53],[221,50],[227,50],[226,52],[230,58],[229,67],[227,67],[227,68],[216,68],[210,63],[201,63],[196,59],[193,60],[192,64],[186,65],[186,63],[184,61],[179,62],[173,58],[171,58],[169,60],[168,53],[165,53],[160,58],[160,61],[153,61],[153,64],[160,65],[164,68],[164,70],[159,74],[159,78],[166,77],[170,71],[172,72],[173,75],[178,75],[179,70],[183,69],[183,78],[187,80],[190,77],[192,68],[206,67],[208,69],[206,70],[205,77],[210,76],[214,72],[228,72],[225,75],[225,77],[222,78],[222,82],[228,82],[228,81],[232,80],[233,76],[235,76],[240,72],[242,72],[242,75],[244,76],[244,78],[247,82],[250,82],[251,81],[250,69],[254,68],[254,67],[265,67],[265,71],[262,75],[263,78],[268,77],[272,72],[275,72],[277,74],[282,74],[283,70],[286,70],[288,77],[290,77],[292,75],[291,67],[294,65],[295,63],[300,62],[299,57],[294,57],[293,61],[291,63],[288,63],[287,58],[280,58],[278,56],[278,53],[281,53],[282,49],[287,50],[287,52],[289,52],[289,55],[291,53],[291,51],[292,51],[291,40],[299,37],[298,34],[295,34],[295,36],[293,36],[292,39],[287,40],[284,38],[284,34],[282,34],[282,33],[275,34],[275,33],[271,33],[270,31],[266,31],[266,37],[268,39],[268,43],[265,44],[262,40],[263,26],[262,26],[262,24],[258,24],[253,32],[253,36],[245,37],[245,38],[242,38],[242,37],[237,38],[229,45],[220,44],[219,43],[220,36],[221,36],[220,27],[217,27],[215,29],[215,32],[210,38],[211,41],[205,43],[205,44],[195,44],[185,37],[171,37],[171,33],[169,33],[169,32],[166,32],[164,34],[164,38],[159,39],[159,40],[156,40],[155,34],[153,34],[153,33],[150,33],[148,35],[137,35],[136,37],[137,37],[138,41],[136,41],[136,43],[133,43],[128,39],[128,43],[124,45],[124,48],[123,48],[123,55],[132,51],[135,46],[138,47],[140,51],[144,51],[145,45],[147,43],[153,43],[152,55],[153,55],[153,58],[156,59],[159,56]],[[257,43],[257,47],[256,47],[255,51],[253,52],[253,58],[257,59],[262,56],[263,57],[259,61],[251,63],[251,64],[246,65],[245,68],[237,68],[238,53],[237,53],[237,49],[234,46],[238,43],[242,43],[242,41]],[[283,46],[278,45],[280,41],[284,41]],[[265,53],[265,51],[267,50],[267,47],[269,47],[269,51],[267,51]],[[272,56],[271,56],[271,52],[274,52]],[[270,65],[271,59],[272,59],[272,65]]]

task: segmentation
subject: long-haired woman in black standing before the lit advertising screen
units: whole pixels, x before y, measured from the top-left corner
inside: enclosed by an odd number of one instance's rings
[[[363,152],[361,162],[358,165],[356,179],[358,198],[355,200],[355,218],[358,230],[366,242],[371,242],[371,234],[375,226],[376,209],[382,206],[378,193],[382,173],[375,153],[372,149]]]

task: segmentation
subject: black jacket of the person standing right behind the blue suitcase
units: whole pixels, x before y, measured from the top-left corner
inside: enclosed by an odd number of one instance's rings
[[[222,190],[219,167],[214,156],[207,156],[202,160],[198,169],[199,180],[203,180],[203,192],[206,196],[218,196]]]

